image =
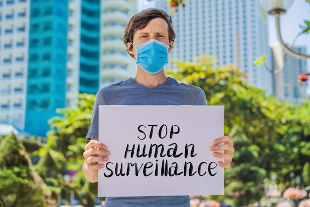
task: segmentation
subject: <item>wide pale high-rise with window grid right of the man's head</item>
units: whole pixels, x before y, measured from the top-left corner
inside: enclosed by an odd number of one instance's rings
[[[171,11],[167,0],[152,4]],[[267,21],[258,0],[186,0],[172,20],[176,39],[170,59],[193,62],[208,54],[217,60],[215,66],[233,63],[248,75],[248,83],[272,94],[272,75],[254,65],[256,58],[270,57]],[[271,60],[266,64],[270,67]]]

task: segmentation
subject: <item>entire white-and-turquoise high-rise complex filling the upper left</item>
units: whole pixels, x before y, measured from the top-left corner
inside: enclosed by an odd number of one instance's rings
[[[77,93],[132,76],[122,37],[136,10],[136,0],[0,0],[0,123],[46,136]]]

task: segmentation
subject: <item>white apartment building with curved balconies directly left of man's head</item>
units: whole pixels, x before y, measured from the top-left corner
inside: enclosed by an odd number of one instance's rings
[[[101,2],[100,87],[134,76],[136,65],[123,43],[127,22],[137,12],[136,0]]]

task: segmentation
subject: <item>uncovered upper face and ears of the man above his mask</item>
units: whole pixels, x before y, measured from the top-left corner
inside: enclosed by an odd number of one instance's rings
[[[154,18],[147,24],[145,28],[137,30],[134,34],[132,44],[134,44],[135,46],[138,46],[152,39],[163,42],[166,45],[169,44],[168,24],[164,19]],[[136,48],[132,47],[132,50],[129,50],[130,46],[131,46],[130,43],[126,44],[126,47],[129,53],[134,55],[134,57],[136,58],[137,57]],[[168,49],[169,53],[172,50],[172,46],[173,46],[173,42],[171,41],[170,47]]]

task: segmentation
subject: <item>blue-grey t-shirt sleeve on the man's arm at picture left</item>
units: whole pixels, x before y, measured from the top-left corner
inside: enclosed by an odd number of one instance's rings
[[[91,126],[88,129],[88,133],[86,135],[87,139],[91,138],[99,138],[99,105],[105,105],[104,99],[103,99],[103,94],[102,91],[100,90],[96,94],[95,98],[95,103],[93,107],[93,114],[92,114],[92,121],[91,121]]]

